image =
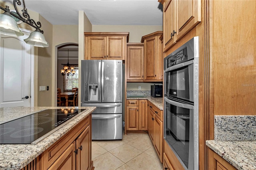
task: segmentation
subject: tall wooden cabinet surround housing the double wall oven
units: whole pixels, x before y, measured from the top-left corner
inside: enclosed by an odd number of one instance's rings
[[[164,57],[198,36],[199,169],[207,170],[205,141],[214,139],[214,115],[256,113],[256,1],[158,1]],[[182,169],[165,140],[163,146],[166,168]]]

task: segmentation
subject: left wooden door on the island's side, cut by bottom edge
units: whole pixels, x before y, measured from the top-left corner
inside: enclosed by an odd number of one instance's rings
[[[76,169],[76,142],[74,141],[63,154],[48,168],[48,170],[75,170]]]

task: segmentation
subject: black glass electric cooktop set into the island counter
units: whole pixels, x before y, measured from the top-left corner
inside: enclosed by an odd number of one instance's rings
[[[0,144],[36,144],[87,109],[46,109],[0,125]]]

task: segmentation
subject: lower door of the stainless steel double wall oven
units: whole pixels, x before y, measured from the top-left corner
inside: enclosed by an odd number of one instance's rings
[[[164,139],[188,170],[194,170],[193,122],[193,105],[164,97]]]

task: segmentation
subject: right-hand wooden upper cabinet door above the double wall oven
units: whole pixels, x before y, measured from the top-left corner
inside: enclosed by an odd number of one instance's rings
[[[201,22],[200,0],[177,0],[177,41]]]

